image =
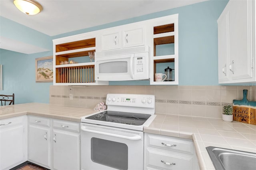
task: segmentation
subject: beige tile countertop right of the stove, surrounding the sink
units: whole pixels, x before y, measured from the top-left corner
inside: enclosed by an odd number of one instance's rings
[[[192,139],[201,170],[215,170],[207,146],[256,152],[256,125],[236,121],[156,114],[151,125],[143,131]]]

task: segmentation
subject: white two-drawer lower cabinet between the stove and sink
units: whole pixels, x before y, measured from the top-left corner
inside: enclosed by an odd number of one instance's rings
[[[145,133],[144,147],[144,170],[199,169],[191,140]]]

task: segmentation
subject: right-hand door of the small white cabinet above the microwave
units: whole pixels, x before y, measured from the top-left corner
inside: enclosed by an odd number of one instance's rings
[[[136,28],[125,30],[122,33],[122,47],[133,47],[137,45],[144,45],[143,28]]]

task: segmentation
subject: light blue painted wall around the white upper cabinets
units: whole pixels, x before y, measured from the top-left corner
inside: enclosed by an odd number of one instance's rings
[[[24,40],[26,43],[51,51],[25,55],[0,49],[0,63],[4,65],[4,91],[0,93],[15,93],[17,104],[49,103],[49,87],[52,83],[35,83],[35,58],[52,55],[52,39],[177,13],[179,14],[179,85],[218,85],[217,19],[227,2],[227,0],[209,0],[53,37],[1,17],[1,36]],[[166,66],[162,69],[164,68]],[[149,85],[149,81],[114,81],[110,82],[110,85]]]

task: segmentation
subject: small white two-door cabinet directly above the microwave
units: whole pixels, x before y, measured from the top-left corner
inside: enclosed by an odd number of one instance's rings
[[[101,51],[144,45],[144,28],[118,26],[105,29],[101,34]]]

